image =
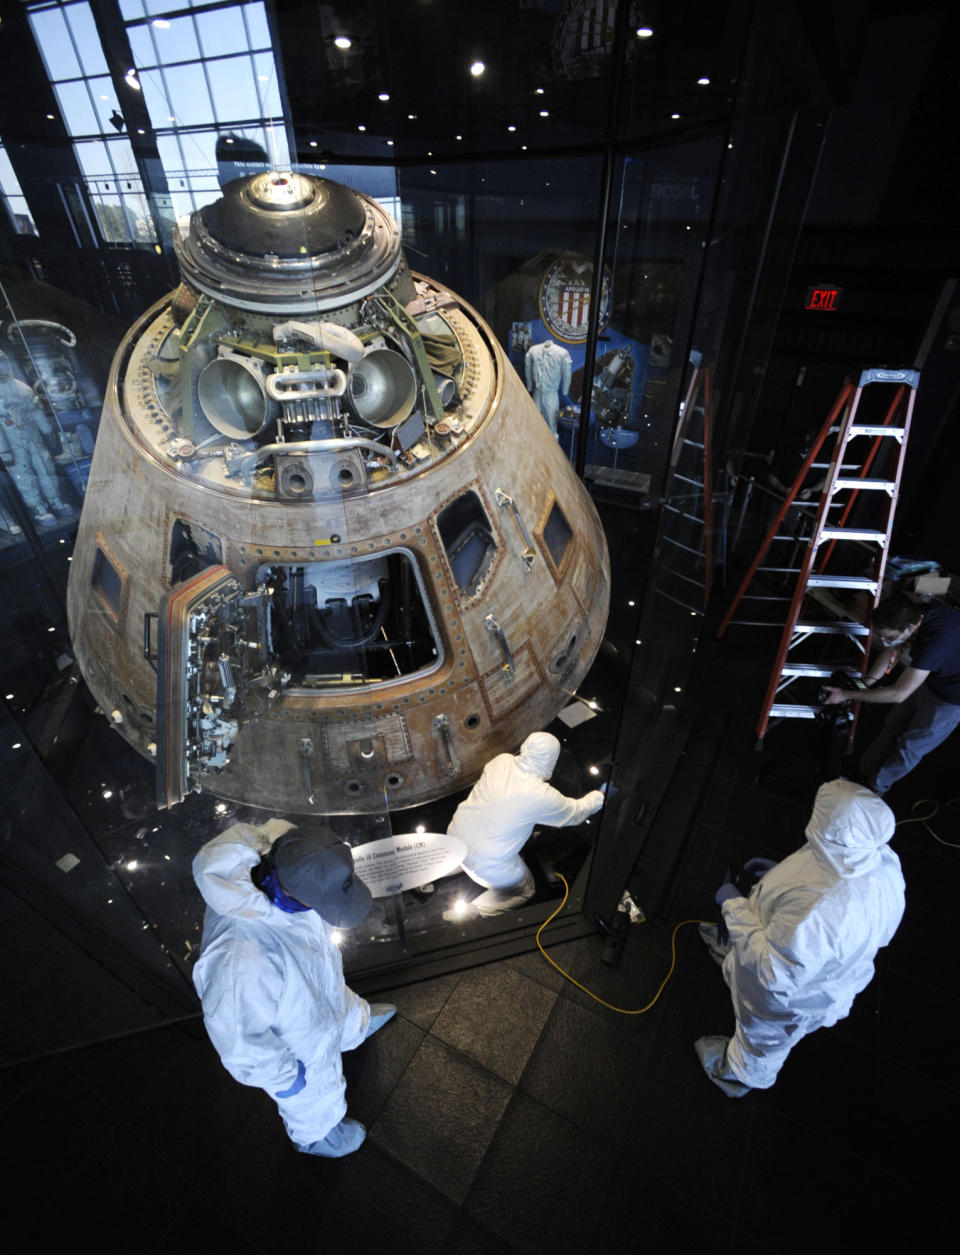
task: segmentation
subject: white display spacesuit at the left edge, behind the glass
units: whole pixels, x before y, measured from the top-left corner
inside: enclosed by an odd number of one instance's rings
[[[44,437],[54,425],[31,389],[0,353],[0,457],[38,523],[53,522],[64,503]]]

